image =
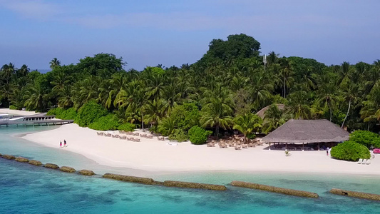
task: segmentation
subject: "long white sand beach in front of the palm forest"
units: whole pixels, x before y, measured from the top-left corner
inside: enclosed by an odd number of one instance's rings
[[[380,155],[370,165],[337,161],[325,151],[265,150],[268,145],[236,151],[234,148],[195,146],[190,142],[169,145],[170,141],[140,138],[140,142],[98,136],[90,128],[67,124],[51,131],[30,133],[26,140],[59,149],[59,142],[66,140],[68,147],[62,150],[82,154],[87,158],[112,167],[133,168],[148,171],[286,171],[301,173],[350,173],[380,175]]]

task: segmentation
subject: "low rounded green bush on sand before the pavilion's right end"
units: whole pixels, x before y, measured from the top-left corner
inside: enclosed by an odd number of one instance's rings
[[[345,141],[334,146],[331,150],[331,156],[344,161],[358,161],[359,158],[369,159],[371,154],[366,146],[354,141]]]

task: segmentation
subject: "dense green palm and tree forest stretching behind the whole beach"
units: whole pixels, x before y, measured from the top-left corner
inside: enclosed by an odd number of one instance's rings
[[[195,63],[143,71],[125,71],[122,58],[103,53],[70,65],[53,58],[48,73],[8,63],[0,68],[0,107],[43,112],[59,106],[71,109],[62,118],[76,117],[80,126],[113,113],[119,123],[165,136],[188,135],[192,126],[218,137],[234,129],[250,136],[256,130],[240,117],[266,106],[264,121],[255,122],[266,133],[290,118],[326,118],[349,131],[379,131],[380,60],[326,66],[271,51],[264,64],[260,46],[252,36],[230,35],[212,40]]]

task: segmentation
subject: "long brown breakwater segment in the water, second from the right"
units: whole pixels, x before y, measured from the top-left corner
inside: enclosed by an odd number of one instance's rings
[[[286,195],[295,195],[299,197],[309,197],[309,198],[319,198],[319,195],[317,193],[311,193],[307,191],[302,191],[302,190],[292,190],[292,189],[287,189],[287,188],[278,188],[275,186],[271,185],[262,185],[258,183],[248,183],[248,182],[243,182],[243,181],[232,181],[230,183],[231,185],[242,187],[242,188],[251,188],[251,189],[257,189],[257,190],[265,190],[269,192],[274,192],[274,193],[282,193]]]

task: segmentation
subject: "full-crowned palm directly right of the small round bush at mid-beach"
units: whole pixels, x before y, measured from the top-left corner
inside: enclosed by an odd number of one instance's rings
[[[202,109],[200,123],[202,126],[210,126],[216,129],[217,138],[219,138],[219,128],[230,128],[232,124],[232,108],[225,103],[222,103],[220,98],[212,98],[210,103],[207,103]]]

